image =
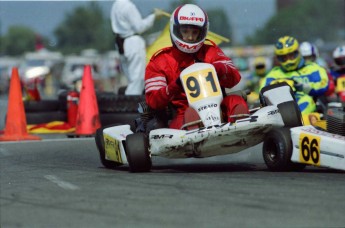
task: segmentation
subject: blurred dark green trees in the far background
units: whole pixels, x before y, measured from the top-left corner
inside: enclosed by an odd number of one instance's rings
[[[176,0],[170,5],[170,12],[183,3],[194,0]],[[224,9],[207,10],[212,20],[212,31],[231,40],[233,29]],[[144,36],[161,31],[168,18],[155,22]],[[247,45],[273,44],[279,36],[295,36],[298,40],[322,40],[342,42],[345,40],[345,1],[343,0],[300,0],[283,8],[245,40]],[[51,46],[46,37],[40,37],[25,26],[12,26],[0,37],[0,55],[19,56],[34,51],[38,38],[50,50],[64,54],[79,53],[93,48],[99,52],[114,49],[114,37],[110,20],[97,2],[79,6],[65,15],[54,30],[56,45]],[[224,45],[224,44],[223,44]],[[234,43],[226,45],[236,45]]]

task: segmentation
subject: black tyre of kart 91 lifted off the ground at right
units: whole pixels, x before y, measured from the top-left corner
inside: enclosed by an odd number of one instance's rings
[[[302,114],[295,101],[278,104],[279,112],[283,118],[285,127],[302,126]]]

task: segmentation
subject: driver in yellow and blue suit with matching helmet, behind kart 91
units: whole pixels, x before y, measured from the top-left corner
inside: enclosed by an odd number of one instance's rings
[[[297,39],[292,36],[279,38],[274,51],[280,66],[274,67],[266,75],[260,88],[281,80],[290,81],[302,114],[314,112],[314,97],[323,95],[328,89],[326,70],[316,63],[306,62]]]

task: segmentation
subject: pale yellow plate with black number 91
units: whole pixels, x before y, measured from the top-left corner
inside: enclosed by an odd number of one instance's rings
[[[195,71],[182,76],[189,103],[207,97],[221,95],[221,89],[215,71],[212,68]]]

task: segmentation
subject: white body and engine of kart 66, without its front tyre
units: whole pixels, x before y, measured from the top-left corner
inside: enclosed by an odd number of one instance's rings
[[[326,124],[291,128],[291,161],[345,170],[345,107],[329,107]],[[334,105],[334,104],[333,104]]]

